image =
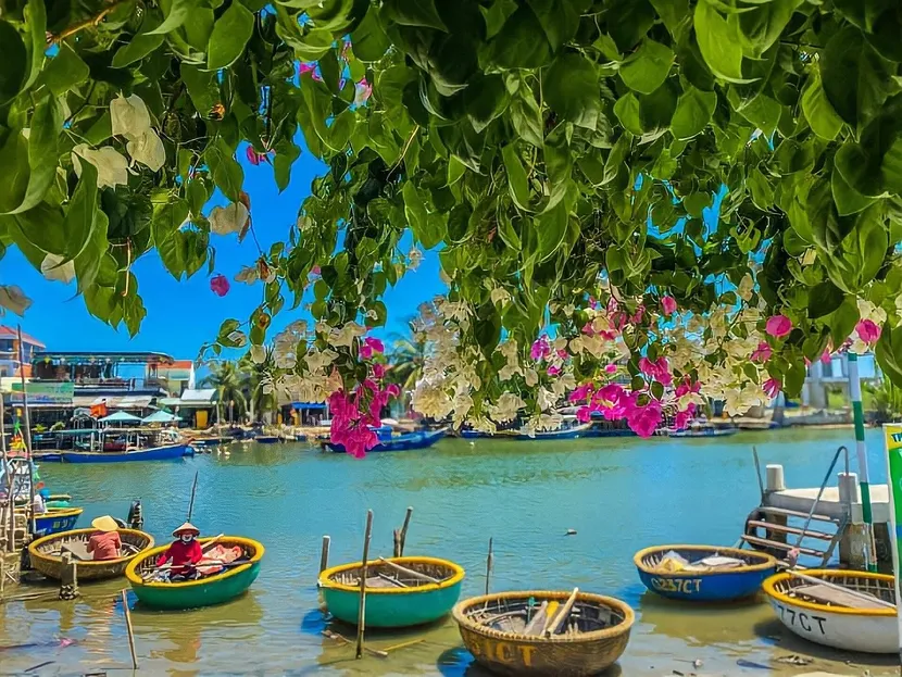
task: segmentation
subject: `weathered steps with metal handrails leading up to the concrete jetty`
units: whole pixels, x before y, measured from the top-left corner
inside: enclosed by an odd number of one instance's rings
[[[840,447],[834,454],[832,463],[827,471],[824,481],[820,484],[820,489],[817,491],[817,497],[807,513],[794,510],[786,510],[782,507],[774,507],[765,504],[764,482],[761,479],[761,464],[757,459],[757,450],[753,450],[755,459],[755,471],[757,472],[759,487],[761,488],[761,505],[755,507],[746,519],[746,532],[740,539],[740,544],[748,543],[756,550],[762,550],[773,554],[778,560],[784,561],[788,565],[795,565],[794,562],[787,562],[786,557],[792,550],[798,550],[800,555],[806,555],[819,560],[818,566],[826,566],[834,554],[839,541],[842,540],[845,529],[851,519],[851,505],[845,505],[842,514],[839,517],[830,515],[820,515],[817,513],[817,506],[824,496],[824,490],[827,488],[827,482],[834,473],[837,461],[841,453],[845,454],[845,473],[849,473],[849,450],[845,447]],[[768,519],[780,517],[787,524],[780,524]],[[802,527],[789,526],[790,518],[804,519]],[[832,525],[834,530],[818,530],[812,529],[811,523],[820,523],[824,526]],[[759,529],[763,529],[764,537],[759,536]],[[790,544],[790,537],[795,537],[795,543]],[[803,544],[805,541],[809,544]],[[818,541],[811,543],[811,541]],[[826,548],[822,544],[826,542]]]

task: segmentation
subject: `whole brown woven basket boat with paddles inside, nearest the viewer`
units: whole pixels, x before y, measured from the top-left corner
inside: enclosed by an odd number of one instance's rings
[[[484,667],[561,677],[597,675],[616,663],[636,619],[624,602],[579,591],[486,594],[461,602],[453,616]]]

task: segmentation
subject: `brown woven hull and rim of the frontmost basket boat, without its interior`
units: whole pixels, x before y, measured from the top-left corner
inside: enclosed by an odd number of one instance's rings
[[[577,636],[558,636],[552,639],[501,632],[473,623],[465,617],[467,609],[505,595],[526,595],[538,600],[556,600],[563,604],[569,592],[502,592],[461,602],[454,610],[454,620],[466,649],[477,663],[500,675],[547,675],[554,677],[586,677],[611,667],[626,651],[635,615],[619,600],[598,594],[580,593],[578,601],[591,600],[622,611],[624,623],[606,630]]]

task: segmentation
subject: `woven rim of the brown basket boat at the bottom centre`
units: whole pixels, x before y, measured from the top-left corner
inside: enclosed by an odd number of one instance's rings
[[[569,598],[571,594],[573,594],[573,592],[567,590],[514,590],[510,592],[492,592],[491,594],[480,594],[479,597],[472,597],[464,600],[463,602],[459,602],[454,605],[454,609],[451,610],[451,615],[454,617],[454,620],[458,622],[458,625],[466,628],[467,630],[471,630],[472,632],[477,632],[484,637],[490,637],[492,639],[506,641],[555,644],[576,644],[582,642],[592,642],[601,639],[610,639],[612,637],[618,637],[621,635],[625,635],[626,632],[628,632],[630,628],[632,628],[632,624],[636,622],[636,612],[632,611],[632,607],[626,602],[613,597],[607,597],[605,594],[584,592],[582,590],[580,590],[577,593],[576,601],[596,602],[599,605],[614,609],[615,611],[623,614],[623,622],[618,623],[617,625],[611,626],[610,628],[603,628],[601,630],[591,630],[589,632],[581,632],[579,635],[572,637],[567,637],[564,635],[542,637],[540,635],[523,635],[522,632],[503,632],[501,630],[496,630],[494,628],[490,628],[480,623],[476,623],[463,613],[464,609],[476,606],[478,604],[487,604],[488,602],[494,600],[529,599],[530,597],[566,600]]]

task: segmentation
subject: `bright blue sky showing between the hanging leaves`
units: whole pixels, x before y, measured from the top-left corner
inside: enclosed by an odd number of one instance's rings
[[[245,190],[251,198],[251,216],[254,231],[264,251],[276,241],[285,241],[288,228],[295,223],[298,209],[310,195],[310,184],[325,165],[302,147],[301,158],[295,163],[288,188],[279,193],[268,164],[253,166],[239,148],[238,159],[245,170]],[[222,203],[222,199],[218,200]],[[216,198],[214,197],[214,202]],[[128,336],[125,326],[117,330],[91,316],[84,300],[76,296],[75,283],[64,285],[49,281],[36,271],[15,249],[10,248],[0,259],[0,285],[18,285],[33,301],[25,316],[12,313],[0,317],[0,324],[15,326],[57,351],[155,351],[179,360],[195,360],[200,347],[216,338],[224,319],[247,319],[260,303],[263,286],[235,283],[234,277],[243,265],[252,264],[256,247],[249,236],[238,243],[235,235],[211,236],[216,249],[213,275],[223,274],[231,283],[225,297],[217,297],[210,289],[206,266],[190,279],[176,280],[163,267],[155,251],[141,256],[133,266],[138,278],[138,291],[147,309],[141,329],[135,338]],[[410,242],[404,242],[409,245]],[[408,273],[394,288],[389,288],[384,301],[388,309],[386,327],[377,331],[383,338],[403,334],[405,321],[416,313],[416,308],[444,291],[439,278],[439,262],[435,252],[426,252],[421,266]],[[286,304],[290,299],[286,299]],[[274,318],[274,336],[288,323],[310,318],[301,308],[283,310]],[[240,353],[238,353],[240,354]],[[237,356],[237,355],[235,355]]]

